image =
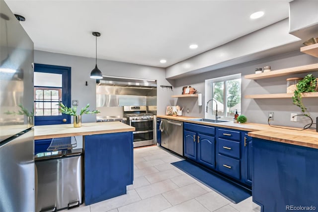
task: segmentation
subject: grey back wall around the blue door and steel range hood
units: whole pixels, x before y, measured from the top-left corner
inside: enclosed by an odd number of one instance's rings
[[[35,51],[34,61],[40,64],[71,67],[72,100],[79,100],[79,108],[85,106],[87,103],[90,104],[91,109],[96,108],[96,81],[89,78],[89,74],[95,66],[94,58]],[[173,92],[160,88],[160,85],[171,86],[171,84],[165,80],[165,70],[163,68],[110,60],[97,60],[97,65],[103,75],[157,80],[157,113],[164,114],[165,106],[170,105],[169,97]],[[88,86],[85,86],[85,81],[88,82]],[[82,116],[82,122],[95,121],[95,114]]]

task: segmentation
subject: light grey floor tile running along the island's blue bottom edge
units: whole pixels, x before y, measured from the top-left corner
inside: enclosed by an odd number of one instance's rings
[[[121,206],[125,206],[140,200],[135,190],[127,191],[126,195],[121,195],[109,200],[90,205],[91,212],[107,212]]]

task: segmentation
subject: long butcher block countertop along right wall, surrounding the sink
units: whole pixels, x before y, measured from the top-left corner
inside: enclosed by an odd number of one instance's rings
[[[210,123],[210,122],[189,120],[189,119],[198,118],[198,117],[188,117],[188,116],[158,115],[157,117],[185,121],[190,123],[205,124],[210,126],[225,127],[230,129],[245,130],[245,131],[249,131],[248,135],[251,137],[318,149],[318,132],[312,129],[301,130],[301,128],[279,126],[279,127],[289,128],[289,129],[282,129],[282,128],[269,126],[268,124],[258,124],[258,123],[243,123],[242,124],[242,123],[234,123],[233,121],[221,122],[221,123]]]

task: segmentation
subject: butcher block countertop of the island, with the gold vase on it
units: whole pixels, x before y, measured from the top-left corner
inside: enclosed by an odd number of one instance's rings
[[[82,123],[81,127],[73,124],[41,125],[34,126],[34,140],[128,131],[135,131],[135,127],[120,121]]]

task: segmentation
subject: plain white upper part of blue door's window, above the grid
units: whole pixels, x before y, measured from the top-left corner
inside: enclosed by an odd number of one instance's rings
[[[62,74],[34,72],[34,86],[62,88]]]

